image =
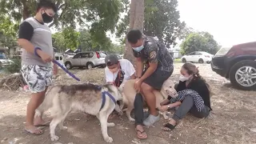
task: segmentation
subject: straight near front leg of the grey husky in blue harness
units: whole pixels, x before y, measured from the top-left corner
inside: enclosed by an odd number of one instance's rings
[[[100,113],[98,115],[98,119],[101,122],[101,127],[102,127],[102,136],[104,138],[104,140],[106,142],[113,142],[113,138],[111,138],[108,134],[107,134],[107,118],[108,118],[109,114],[106,114],[106,112],[104,113]]]

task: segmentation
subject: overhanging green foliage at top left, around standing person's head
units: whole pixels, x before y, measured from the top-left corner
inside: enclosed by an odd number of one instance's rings
[[[9,15],[16,22],[33,16],[36,12],[36,0],[1,0],[0,14]],[[119,13],[120,0],[55,0],[58,14],[50,26],[55,28],[77,26],[89,29],[91,38],[98,43],[106,43],[106,31],[114,32]],[[90,26],[86,25],[90,23]]]

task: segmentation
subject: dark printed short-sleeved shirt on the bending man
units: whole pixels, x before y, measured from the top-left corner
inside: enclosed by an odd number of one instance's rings
[[[138,53],[133,50],[133,52],[135,58],[142,58],[146,68],[149,67],[149,62],[158,62],[158,69],[160,70],[172,71],[174,69],[173,58],[171,58],[166,46],[153,37],[145,38],[142,51]]]

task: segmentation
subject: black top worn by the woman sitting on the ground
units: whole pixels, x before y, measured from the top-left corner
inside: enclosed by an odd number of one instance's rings
[[[178,83],[178,86],[176,87],[177,91],[186,90],[186,89],[191,89],[198,92],[198,94],[202,97],[202,100],[204,101],[205,105],[208,106],[210,110],[212,110],[210,107],[210,90],[206,86],[205,81],[203,81],[200,78],[194,78],[187,87],[186,87],[186,81],[185,82],[180,81]]]

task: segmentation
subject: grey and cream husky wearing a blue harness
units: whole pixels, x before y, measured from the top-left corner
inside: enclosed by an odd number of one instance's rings
[[[46,98],[36,110],[36,114],[42,115],[44,111],[51,108],[53,120],[50,122],[50,139],[57,141],[55,128],[58,125],[61,130],[66,130],[63,122],[68,114],[74,110],[81,110],[87,114],[96,115],[102,127],[102,135],[106,142],[113,142],[107,134],[107,126],[114,126],[108,123],[107,118],[113,110],[122,114],[122,110],[115,105],[122,100],[118,88],[114,85],[97,86],[93,84],[54,86],[46,94]]]

